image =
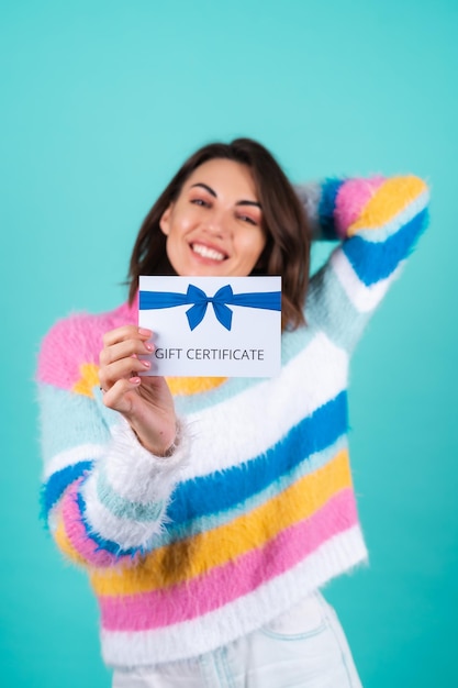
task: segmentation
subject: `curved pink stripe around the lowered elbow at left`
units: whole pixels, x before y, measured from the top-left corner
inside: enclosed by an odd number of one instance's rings
[[[129,562],[132,566],[132,556],[115,556],[105,550],[101,550],[100,545],[89,537],[78,507],[78,491],[82,480],[83,478],[76,480],[62,500],[64,528],[71,546],[92,566],[114,566],[122,562]]]

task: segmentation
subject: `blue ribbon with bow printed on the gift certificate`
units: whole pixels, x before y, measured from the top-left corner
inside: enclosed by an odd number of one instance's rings
[[[174,308],[192,303],[186,311],[191,330],[198,326],[205,317],[209,303],[213,306],[214,314],[221,324],[231,330],[232,310],[228,306],[247,306],[249,308],[262,308],[269,311],[281,311],[281,291],[260,291],[253,293],[234,293],[231,285],[221,287],[214,297],[208,297],[202,289],[188,286],[186,293],[175,291],[141,291],[139,309],[153,310],[158,308]]]

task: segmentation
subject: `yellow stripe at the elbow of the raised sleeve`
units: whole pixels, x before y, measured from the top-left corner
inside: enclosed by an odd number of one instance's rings
[[[423,179],[412,175],[387,179],[368,201],[358,220],[350,224],[347,235],[353,236],[361,230],[380,229],[426,189]]]

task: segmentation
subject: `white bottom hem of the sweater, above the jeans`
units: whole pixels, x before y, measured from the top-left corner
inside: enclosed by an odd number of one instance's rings
[[[103,659],[108,666],[127,669],[212,652],[269,623],[331,579],[367,563],[367,558],[360,526],[355,525],[281,576],[191,621],[148,631],[102,629]]]

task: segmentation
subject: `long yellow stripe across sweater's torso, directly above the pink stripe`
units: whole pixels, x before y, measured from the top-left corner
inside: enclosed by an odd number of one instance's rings
[[[91,572],[92,586],[98,595],[133,595],[192,579],[254,547],[262,547],[284,529],[313,515],[350,485],[348,453],[344,450],[326,466],[225,525],[160,547],[135,568]]]

